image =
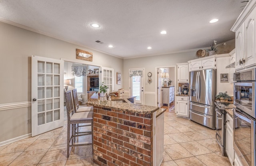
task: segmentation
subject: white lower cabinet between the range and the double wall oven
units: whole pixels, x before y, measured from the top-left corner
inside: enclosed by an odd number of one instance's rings
[[[226,153],[231,165],[233,165],[233,162],[234,162],[233,118],[229,114],[226,114]]]

